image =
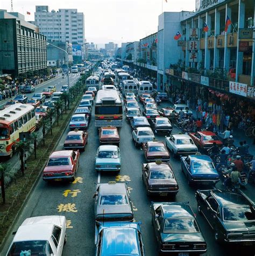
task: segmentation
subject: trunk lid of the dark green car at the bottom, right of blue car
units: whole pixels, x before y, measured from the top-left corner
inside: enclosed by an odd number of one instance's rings
[[[161,239],[164,243],[178,243],[178,242],[204,242],[202,233],[162,233]]]

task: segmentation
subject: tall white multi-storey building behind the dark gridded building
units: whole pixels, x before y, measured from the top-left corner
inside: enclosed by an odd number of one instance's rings
[[[85,43],[83,12],[77,12],[77,9],[49,12],[48,6],[36,6],[34,20],[47,40],[72,43],[74,61],[82,61]]]

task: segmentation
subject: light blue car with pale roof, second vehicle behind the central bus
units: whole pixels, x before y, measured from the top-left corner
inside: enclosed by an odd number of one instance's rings
[[[96,171],[120,171],[121,153],[114,145],[98,147],[96,154]]]

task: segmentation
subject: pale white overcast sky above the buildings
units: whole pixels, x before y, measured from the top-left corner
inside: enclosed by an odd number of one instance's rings
[[[36,5],[48,5],[50,11],[76,8],[84,13],[87,41],[121,44],[157,31],[161,1],[164,11],[195,10],[195,0],[13,0],[13,11],[29,11],[26,20],[34,20]],[[11,0],[0,0],[0,9],[10,11]]]

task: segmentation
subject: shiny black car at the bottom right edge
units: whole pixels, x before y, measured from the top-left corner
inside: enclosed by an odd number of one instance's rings
[[[219,243],[255,245],[254,203],[242,192],[197,190],[197,210]]]

